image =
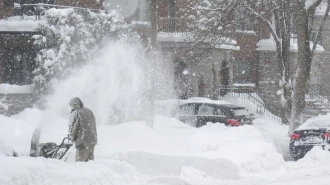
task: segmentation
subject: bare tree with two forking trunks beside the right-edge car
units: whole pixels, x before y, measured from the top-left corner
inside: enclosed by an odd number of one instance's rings
[[[313,40],[313,47],[310,48],[309,35],[311,33],[312,21],[315,9],[322,0],[270,0],[266,3],[267,7],[262,12],[251,8],[251,2],[246,2],[246,7],[266,25],[273,35],[277,48],[277,61],[282,74],[283,89],[283,112],[284,122],[289,123],[291,133],[303,121],[303,111],[305,109],[305,93],[307,91],[307,82],[311,70],[312,58],[316,45],[320,39],[320,34],[325,25],[329,13],[329,3],[327,0],[327,9],[320,24],[320,27]],[[258,2],[259,5],[260,1]],[[267,15],[267,12],[271,15]],[[273,18],[274,22],[271,22]],[[295,24],[291,25],[291,20]],[[295,27],[295,30],[291,29]],[[290,76],[290,35],[296,31],[298,40],[298,60],[297,69],[294,76]],[[294,81],[294,83],[291,83]],[[291,98],[292,97],[292,98]]]

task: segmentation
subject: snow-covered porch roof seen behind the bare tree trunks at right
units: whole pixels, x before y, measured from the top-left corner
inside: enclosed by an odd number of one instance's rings
[[[313,47],[313,42],[310,43],[310,48]],[[276,51],[276,43],[274,39],[262,39],[257,43],[257,51]],[[296,39],[291,39],[290,41],[290,51],[298,52],[298,43]],[[324,48],[317,44],[315,53],[323,53],[325,52]]]

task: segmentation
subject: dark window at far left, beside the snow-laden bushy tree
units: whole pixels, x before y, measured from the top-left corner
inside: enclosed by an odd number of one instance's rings
[[[28,85],[32,83],[36,52],[32,49],[5,49],[5,83]]]

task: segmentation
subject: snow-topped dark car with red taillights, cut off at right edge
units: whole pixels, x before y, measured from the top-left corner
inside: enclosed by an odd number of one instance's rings
[[[330,115],[321,115],[308,119],[291,135],[290,155],[294,159],[305,156],[314,146],[329,150]]]

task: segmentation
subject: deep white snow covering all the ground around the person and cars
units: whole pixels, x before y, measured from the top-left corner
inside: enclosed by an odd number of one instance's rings
[[[315,148],[304,159],[286,162],[288,127],[264,119],[253,126],[193,128],[158,115],[153,130],[139,121],[98,125],[95,161],[74,163],[74,150],[66,162],[29,157],[42,115],[26,109],[0,116],[0,184],[326,185],[330,180],[330,153]],[[46,124],[41,142],[59,143],[65,121]],[[5,155],[9,148],[20,157]]]

